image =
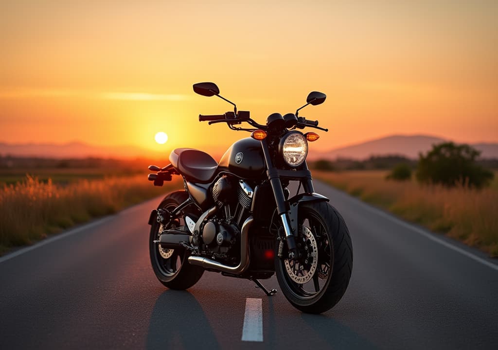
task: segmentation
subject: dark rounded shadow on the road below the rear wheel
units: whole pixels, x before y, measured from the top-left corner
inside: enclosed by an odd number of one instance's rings
[[[218,349],[220,346],[197,299],[187,291],[166,290],[157,298],[146,349]]]

